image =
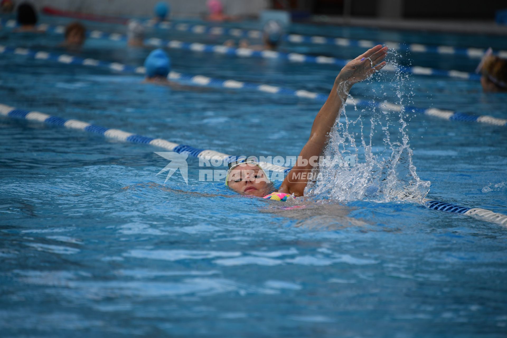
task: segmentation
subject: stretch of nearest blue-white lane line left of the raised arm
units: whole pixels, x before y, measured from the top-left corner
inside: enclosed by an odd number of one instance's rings
[[[206,160],[218,159],[227,162],[227,161],[235,161],[237,158],[235,156],[216,152],[210,149],[196,148],[187,144],[177,144],[174,142],[170,142],[168,140],[164,140],[162,138],[153,138],[148,136],[136,135],[134,133],[129,133],[119,129],[97,126],[84,121],[74,119],[67,120],[57,116],[44,114],[43,112],[40,111],[28,111],[17,109],[15,107],[11,107],[6,104],[0,104],[0,115],[10,118],[41,122],[50,126],[60,126],[68,129],[83,130],[89,133],[99,134],[106,138],[112,138],[123,142],[150,144],[178,154],[187,152],[189,155],[193,157]],[[291,168],[277,166],[275,164],[268,162],[260,162],[259,164],[262,166],[264,170],[271,170],[284,173],[287,173],[289,170],[291,170]]]

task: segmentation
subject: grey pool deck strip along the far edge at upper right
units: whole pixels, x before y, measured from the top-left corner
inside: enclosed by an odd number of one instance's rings
[[[507,36],[507,25],[481,20],[377,19],[315,15],[312,23],[382,29],[426,30],[447,33],[491,34]]]

